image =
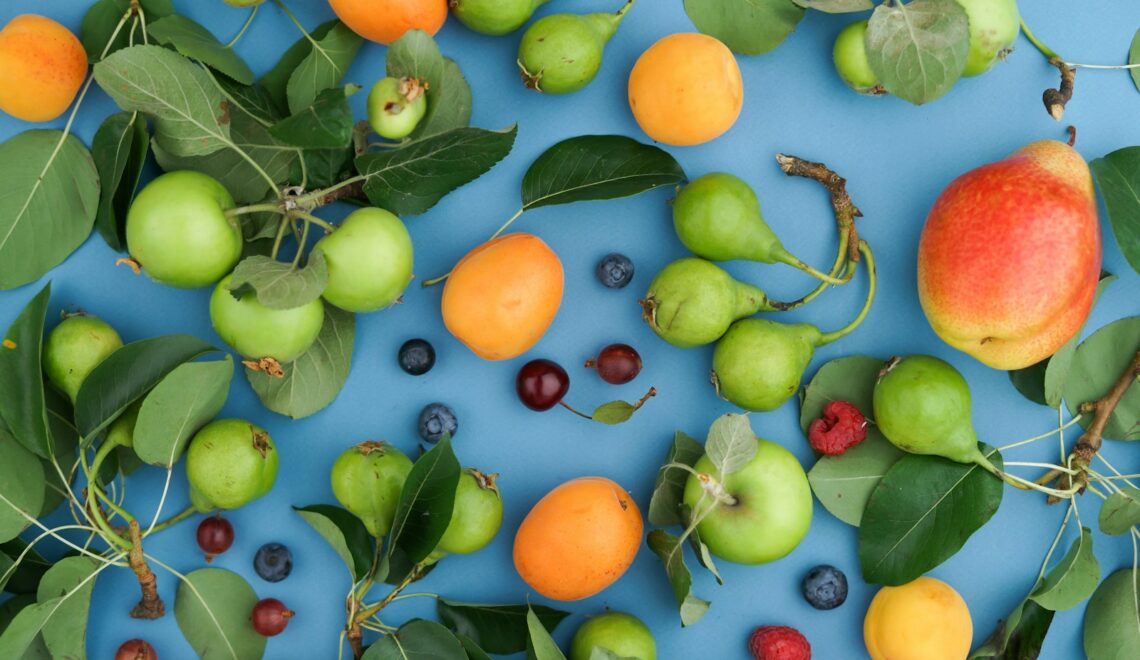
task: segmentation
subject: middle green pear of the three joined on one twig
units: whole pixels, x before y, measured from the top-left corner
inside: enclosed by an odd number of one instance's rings
[[[662,268],[641,304],[653,332],[683,349],[715,342],[738,318],[774,311],[763,291],[692,256]]]

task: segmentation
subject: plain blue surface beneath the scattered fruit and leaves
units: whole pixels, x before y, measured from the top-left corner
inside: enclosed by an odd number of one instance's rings
[[[308,26],[332,17],[320,0],[295,0],[294,9]],[[618,0],[557,0],[540,14],[556,10],[610,10]],[[0,3],[0,24],[13,16],[36,11],[78,30],[85,0],[9,0]],[[209,26],[223,41],[235,33],[245,11],[220,0],[176,0],[176,6]],[[1078,9],[1078,6],[1082,7]],[[1089,7],[1089,8],[1084,8]],[[1094,7],[1094,9],[1092,8]],[[1140,9],[1132,0],[1078,5],[1061,0],[1023,2],[1021,10],[1035,32],[1054,49],[1080,62],[1122,62]],[[1024,39],[1017,51],[996,70],[960,82],[948,96],[925,107],[895,98],[864,98],[848,91],[834,75],[831,43],[849,17],[809,13],[799,28],[772,54],[740,58],[744,76],[744,112],[722,139],[671,153],[690,176],[727,170],[755,186],[768,222],[788,247],[815,264],[833,256],[834,231],[825,195],[819,185],[788,179],[773,155],[787,152],[824,161],[849,179],[853,198],[865,213],[862,235],[876,248],[882,286],[868,321],[853,335],[821,349],[809,368],[847,355],[888,357],[927,352],[952,361],[969,380],[975,394],[979,435],[1000,445],[1047,431],[1052,413],[1023,399],[1004,373],[982,366],[951,350],[922,317],[914,287],[914,251],[922,221],[939,190],[955,176],[1004,156],[1031,140],[1064,138],[1064,125],[1041,107],[1040,95],[1057,83],[1056,70],[1045,65]],[[523,90],[515,72],[518,35],[487,38],[449,21],[438,35],[443,52],[462,66],[474,90],[473,123],[502,128],[519,123],[519,139],[511,156],[491,173],[448,196],[422,217],[409,218],[416,246],[416,274],[423,279],[443,272],[459,256],[483,241],[519,205],[519,184],[526,168],[555,141],[580,133],[622,133],[638,139],[626,105],[626,76],[637,55],[665,34],[691,31],[681,0],[641,0],[606,50],[601,75],[585,91],[569,97],[543,97]],[[298,32],[275,7],[266,7],[238,51],[258,72],[266,71],[295,39]],[[365,46],[347,82],[370,85],[382,75],[384,49]],[[363,116],[365,95],[353,100]],[[99,122],[115,108],[97,88],[75,124],[89,141]],[[1140,144],[1140,95],[1122,72],[1082,72],[1077,95],[1066,122],[1075,123],[1077,148],[1088,158]],[[54,122],[63,125],[63,120]],[[0,116],[0,139],[28,127]],[[269,658],[333,658],[343,626],[347,573],[336,555],[292,511],[293,505],[333,503],[328,468],[344,448],[366,439],[386,439],[405,451],[416,451],[415,418],[431,401],[446,401],[461,419],[456,450],[464,465],[502,473],[506,500],[504,528],[484,551],[456,556],[423,580],[422,590],[449,598],[482,602],[545,602],[528,592],[511,563],[513,531],[530,506],[548,489],[587,474],[610,476],[628,488],[643,510],[653,478],[674,430],[703,437],[708,424],[730,412],[706,382],[711,347],[682,351],[668,347],[640,319],[637,298],[652,275],[684,250],[673,234],[666,199],[656,192],[630,199],[540,209],[516,223],[520,230],[542,236],[562,258],[565,296],[551,331],[524,357],[507,362],[477,359],[442,327],[440,288],[409,287],[405,304],[361,317],[357,326],[351,377],[340,398],[310,418],[291,422],[260,406],[241,375],[225,415],[242,416],[264,425],[277,441],[282,470],[266,498],[228,514],[237,529],[231,551],[213,565],[246,576],[262,597],[284,600],[298,611],[287,633],[270,639]],[[343,207],[321,211],[339,219]],[[1102,212],[1104,218],[1104,212]],[[1137,313],[1140,282],[1106,233],[1105,268],[1121,276],[1096,308],[1086,333],[1130,313]],[[611,251],[625,252],[637,266],[630,287],[603,288],[594,264]],[[161,287],[127,268],[116,268],[116,254],[92,236],[64,266],[48,275],[54,283],[52,315],[60,309],[83,309],[108,319],[128,341],[165,333],[189,332],[219,342],[210,327],[207,290],[174,291]],[[774,298],[789,299],[813,286],[813,280],[781,266],[732,263],[728,269],[762,284]],[[1025,274],[1033,277],[1032,272]],[[0,327],[15,318],[42,283],[0,292]],[[865,282],[829,292],[807,309],[784,319],[819,324],[829,329],[844,325],[862,302]],[[432,341],[439,362],[426,376],[414,378],[396,364],[405,340]],[[642,352],[643,375],[621,388],[605,385],[578,365],[600,347],[628,342]],[[219,345],[221,345],[219,343]],[[523,408],[513,392],[514,374],[526,360],[548,357],[570,370],[573,385],[568,400],[591,407],[613,398],[636,399],[650,384],[660,396],[632,422],[605,427],[563,410],[536,414]],[[773,413],[754,415],[756,432],[781,442],[809,467],[813,455],[797,424],[798,408],[789,402]],[[1008,459],[1056,461],[1056,445],[1042,442],[1013,450]],[[1109,442],[1105,448],[1125,472],[1140,471],[1134,447]],[[161,491],[163,472],[146,470],[129,481],[129,505],[150,512]],[[176,468],[168,512],[185,506],[185,474]],[[1085,524],[1099,507],[1092,496],[1081,500]],[[933,575],[952,584],[969,603],[975,642],[1018,602],[1036,577],[1039,564],[1062,515],[1034,495],[1008,489],[1001,510],[966,547]],[[194,544],[196,522],[185,523],[148,541],[147,549],[180,571],[201,568]],[[1070,533],[1064,541],[1066,545]],[[860,579],[856,530],[819,505],[812,530],[789,557],[763,567],[722,562],[726,585],[716,586],[698,575],[695,593],[712,601],[706,618],[682,629],[660,562],[642,548],[633,568],[616,585],[583,602],[555,604],[572,610],[555,637],[569,642],[584,614],[614,608],[643,618],[657,636],[662,658],[747,658],[744,639],[752,627],[791,625],[811,639],[815,658],[865,657],[863,613],[876,587]],[[284,582],[270,585],[252,570],[254,551],[267,541],[283,541],[294,552],[295,570]],[[1132,561],[1123,538],[1097,532],[1097,554],[1104,575]],[[1059,554],[1057,555],[1059,557]],[[817,563],[833,563],[847,572],[850,596],[834,611],[812,610],[799,594],[799,580]],[[172,604],[176,580],[160,571],[160,589]],[[107,571],[95,589],[88,632],[92,658],[109,658],[130,637],[149,639],[163,658],[190,658],[172,616],[160,621],[128,617],[138,600],[129,571]],[[1058,614],[1043,658],[1083,657],[1081,621],[1084,606]],[[413,616],[432,616],[429,600],[402,601],[385,612],[398,624]]]

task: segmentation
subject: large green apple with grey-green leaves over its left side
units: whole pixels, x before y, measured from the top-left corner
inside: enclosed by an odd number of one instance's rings
[[[715,504],[697,475],[685,482],[684,502],[699,518],[701,540],[724,560],[762,564],[790,553],[804,540],[812,524],[812,489],[799,461],[780,445],[757,439],[756,456],[741,470],[722,480],[708,456],[693,465],[710,475],[735,498],[734,504]]]

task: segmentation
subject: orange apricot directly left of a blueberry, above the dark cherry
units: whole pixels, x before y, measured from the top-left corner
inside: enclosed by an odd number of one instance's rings
[[[562,261],[542,238],[507,234],[467,253],[443,287],[443,325],[486,360],[535,345],[562,304]]]

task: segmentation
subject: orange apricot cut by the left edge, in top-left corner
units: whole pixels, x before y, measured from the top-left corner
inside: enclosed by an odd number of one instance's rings
[[[70,30],[35,14],[0,30],[0,109],[27,122],[48,122],[75,100],[87,78],[87,51]]]

